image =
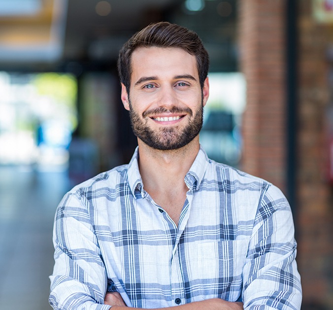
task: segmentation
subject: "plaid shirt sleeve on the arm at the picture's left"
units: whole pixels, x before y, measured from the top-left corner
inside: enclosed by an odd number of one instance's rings
[[[84,194],[67,193],[57,208],[55,266],[49,302],[55,310],[108,310],[107,276]]]

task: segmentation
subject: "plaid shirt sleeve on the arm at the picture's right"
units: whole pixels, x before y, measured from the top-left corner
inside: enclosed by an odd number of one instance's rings
[[[290,206],[275,186],[263,190],[243,269],[244,310],[300,310],[301,285]]]

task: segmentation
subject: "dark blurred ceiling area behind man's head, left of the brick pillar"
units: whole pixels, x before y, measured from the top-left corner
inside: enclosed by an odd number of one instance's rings
[[[0,70],[113,68],[134,32],[172,20],[200,35],[212,70],[235,71],[235,12],[236,0],[0,0]]]

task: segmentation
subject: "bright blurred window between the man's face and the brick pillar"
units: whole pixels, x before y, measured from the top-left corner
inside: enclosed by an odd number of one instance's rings
[[[245,80],[241,73],[208,76],[210,94],[200,143],[209,158],[237,167],[241,156],[240,118],[245,107]]]

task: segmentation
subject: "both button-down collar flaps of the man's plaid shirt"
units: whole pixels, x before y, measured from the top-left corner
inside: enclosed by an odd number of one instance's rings
[[[139,172],[138,165],[139,151],[138,146],[135,148],[133,157],[128,167],[128,182],[133,196],[136,198],[140,195],[142,198],[145,195],[143,190],[142,178]],[[189,172],[185,175],[185,183],[190,191],[194,192],[199,189],[200,183],[203,179],[206,168],[209,164],[209,159],[206,152],[200,145],[200,149],[196,159],[194,160]]]

